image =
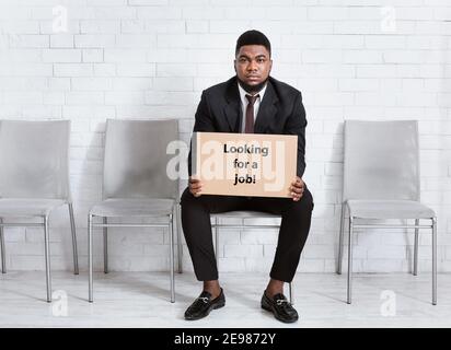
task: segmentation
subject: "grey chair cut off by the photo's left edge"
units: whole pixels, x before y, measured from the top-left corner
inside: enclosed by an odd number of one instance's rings
[[[49,222],[57,207],[68,205],[73,269],[79,273],[77,236],[69,188],[69,120],[0,121],[0,241],[2,272],[7,272],[4,226],[43,228],[47,302],[51,302]],[[8,222],[3,218],[8,218]],[[39,218],[20,223],[9,219]]]

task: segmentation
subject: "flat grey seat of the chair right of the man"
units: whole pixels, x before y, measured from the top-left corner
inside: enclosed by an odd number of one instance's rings
[[[361,200],[347,201],[349,215],[362,219],[431,219],[432,209],[414,200]]]

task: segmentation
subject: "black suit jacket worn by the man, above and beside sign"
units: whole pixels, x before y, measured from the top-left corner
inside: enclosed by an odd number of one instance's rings
[[[196,112],[193,132],[240,132],[242,113],[236,77],[203,92]],[[298,136],[297,175],[305,170],[305,109],[301,92],[269,78],[255,119],[255,133],[282,133]],[[192,175],[192,151],[188,156]]]

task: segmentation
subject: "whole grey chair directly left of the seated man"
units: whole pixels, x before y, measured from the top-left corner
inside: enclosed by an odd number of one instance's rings
[[[92,230],[103,228],[104,272],[108,272],[107,228],[166,228],[170,237],[171,302],[174,291],[174,219],[178,183],[169,178],[166,147],[178,138],[177,120],[114,120],[106,122],[103,201],[88,218],[89,301],[93,302]],[[94,223],[95,217],[103,218]],[[155,219],[165,223],[112,223],[108,218]]]

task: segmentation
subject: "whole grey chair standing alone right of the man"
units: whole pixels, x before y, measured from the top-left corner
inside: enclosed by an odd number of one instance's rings
[[[420,203],[416,120],[345,121],[344,184],[337,273],[342,273],[344,224],[349,213],[347,303],[351,303],[355,229],[414,229],[414,275],[418,271],[418,231],[432,234],[432,305],[437,304],[437,218]],[[414,224],[375,224],[371,220],[414,220]],[[366,223],[360,223],[365,220]],[[430,223],[419,224],[419,220]],[[359,223],[357,223],[359,221]]]

